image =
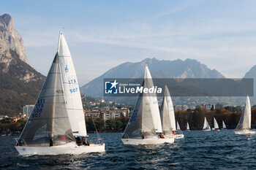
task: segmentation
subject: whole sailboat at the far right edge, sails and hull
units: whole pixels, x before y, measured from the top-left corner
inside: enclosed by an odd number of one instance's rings
[[[256,131],[250,131],[251,128],[251,103],[249,101],[249,96],[246,97],[244,112],[236,126],[235,134],[255,134]]]

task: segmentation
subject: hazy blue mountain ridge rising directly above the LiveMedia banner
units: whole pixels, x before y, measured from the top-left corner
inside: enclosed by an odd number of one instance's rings
[[[102,97],[104,78],[141,78],[144,74],[145,64],[148,65],[153,78],[225,78],[217,70],[211,70],[196,60],[160,61],[157,58],[146,58],[138,63],[122,63],[110,69],[105,74],[83,85],[82,92],[89,96]]]

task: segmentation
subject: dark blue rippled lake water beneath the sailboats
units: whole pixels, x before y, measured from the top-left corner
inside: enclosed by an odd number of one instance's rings
[[[173,144],[127,147],[121,134],[100,134],[106,152],[22,157],[13,138],[0,137],[0,169],[256,169],[256,135],[233,130],[184,131]],[[95,134],[89,134],[95,137]]]

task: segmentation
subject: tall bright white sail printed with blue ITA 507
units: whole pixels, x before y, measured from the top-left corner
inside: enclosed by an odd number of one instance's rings
[[[62,31],[59,34],[58,53],[67,112],[69,115],[72,133],[74,136],[86,136],[86,122],[78,85],[78,77],[76,76],[69,47],[67,46],[67,42]]]

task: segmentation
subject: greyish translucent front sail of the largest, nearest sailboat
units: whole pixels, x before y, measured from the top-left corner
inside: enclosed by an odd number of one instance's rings
[[[56,54],[37,103],[20,134],[20,146],[49,147],[73,141]]]

